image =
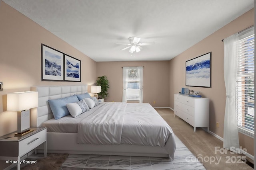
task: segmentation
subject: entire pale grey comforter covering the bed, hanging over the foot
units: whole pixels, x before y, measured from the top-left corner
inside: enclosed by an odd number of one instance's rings
[[[79,119],[78,144],[159,146],[173,158],[172,129],[150,104],[104,103]]]

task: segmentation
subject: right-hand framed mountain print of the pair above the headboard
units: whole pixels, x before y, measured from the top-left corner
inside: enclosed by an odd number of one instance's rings
[[[81,82],[81,61],[65,54],[65,81]]]

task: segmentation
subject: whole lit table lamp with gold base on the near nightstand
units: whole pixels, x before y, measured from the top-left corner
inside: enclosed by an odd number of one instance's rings
[[[38,92],[15,92],[7,94],[7,111],[17,111],[18,130],[15,136],[23,136],[30,129],[30,109],[38,107]]]

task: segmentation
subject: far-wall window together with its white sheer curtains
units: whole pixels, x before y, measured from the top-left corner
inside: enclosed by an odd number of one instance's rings
[[[143,67],[123,67],[123,100],[143,102]]]

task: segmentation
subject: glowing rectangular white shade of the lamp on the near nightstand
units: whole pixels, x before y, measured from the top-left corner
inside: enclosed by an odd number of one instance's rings
[[[23,111],[38,107],[38,92],[15,92],[7,94],[7,110]]]

